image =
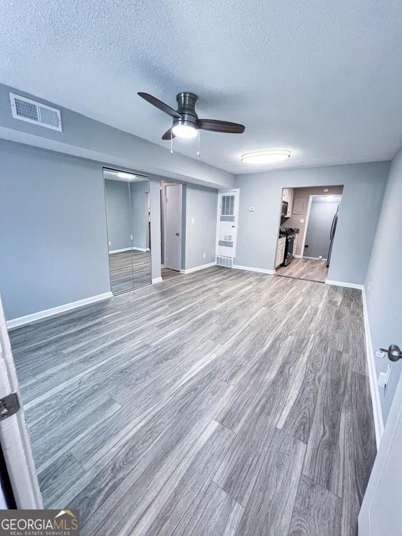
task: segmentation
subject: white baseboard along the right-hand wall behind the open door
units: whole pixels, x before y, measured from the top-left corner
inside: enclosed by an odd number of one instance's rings
[[[364,314],[364,332],[366,334],[366,357],[368,367],[368,379],[370,381],[371,403],[373,405],[373,418],[375,430],[375,442],[377,450],[380,447],[382,433],[384,433],[384,420],[382,419],[380,391],[378,389],[377,373],[375,371],[375,361],[373,344],[371,342],[370,323],[368,322],[368,309],[366,301],[366,289],[362,290],[363,314]]]

